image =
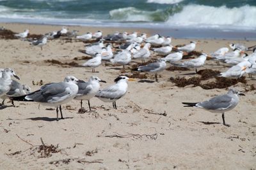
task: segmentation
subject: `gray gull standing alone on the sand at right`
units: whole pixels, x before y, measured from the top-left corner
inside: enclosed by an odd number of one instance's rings
[[[229,126],[225,123],[225,112],[232,110],[236,107],[239,102],[238,95],[244,96],[244,94],[238,92],[236,89],[229,89],[227,94],[213,97],[208,101],[203,101],[200,103],[182,103],[187,106],[184,107],[194,107],[202,108],[204,110],[210,111],[212,113],[222,113],[223,125]]]

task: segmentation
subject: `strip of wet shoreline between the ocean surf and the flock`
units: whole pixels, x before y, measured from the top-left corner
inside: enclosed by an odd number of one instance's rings
[[[127,32],[145,32],[147,34],[161,34],[161,36],[172,36],[173,38],[177,39],[230,39],[230,40],[245,40],[245,41],[255,41],[256,40],[256,32],[255,30],[228,30],[228,29],[205,29],[205,28],[185,28],[185,27],[140,27],[140,26],[133,26],[133,25],[79,25],[79,24],[64,24],[64,23],[25,23],[25,22],[1,22],[0,26],[4,26],[8,28],[10,25],[23,25],[27,27],[62,27],[67,26],[68,28],[76,29],[78,31],[83,30],[95,30],[95,28],[99,28],[102,31],[106,32],[106,34],[111,34],[115,31],[125,30]],[[37,26],[36,26],[37,25]],[[22,27],[23,27],[22,26]],[[35,29],[38,30],[38,29]],[[47,29],[49,30],[49,29]],[[53,31],[53,30],[49,30]],[[88,32],[86,31],[86,32]],[[33,32],[38,33],[38,32]],[[83,34],[85,32],[80,32]],[[141,32],[142,33],[142,32]]]

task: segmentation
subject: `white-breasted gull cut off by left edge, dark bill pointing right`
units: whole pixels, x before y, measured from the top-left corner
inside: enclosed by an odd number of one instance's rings
[[[19,76],[17,76],[15,72],[10,68],[6,68],[2,71],[2,76],[0,78],[0,97],[4,96],[10,91],[12,85],[11,76],[14,76],[20,80]]]

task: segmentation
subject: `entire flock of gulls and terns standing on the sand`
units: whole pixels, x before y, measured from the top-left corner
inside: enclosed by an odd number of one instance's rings
[[[4,27],[0,29],[3,31]],[[216,60],[216,63],[220,65],[220,62],[225,62],[230,65],[227,71],[220,73],[219,76],[226,78],[240,78],[244,74],[248,73],[250,77],[256,74],[256,47],[246,47],[243,44],[230,44],[229,48],[222,47],[216,49],[216,52],[201,53],[199,57],[195,59],[189,59],[182,62],[184,54],[191,53],[196,48],[196,41],[191,41],[188,45],[184,46],[172,46],[172,38],[160,36],[155,34],[147,37],[147,34],[143,33],[138,35],[138,32],[115,32],[102,35],[102,31],[87,32],[81,36],[77,36],[78,31],[68,31],[67,27],[62,27],[60,31],[53,31],[44,34],[40,39],[26,39],[29,30],[15,34],[17,38],[22,40],[31,41],[31,45],[42,47],[47,43],[47,39],[56,39],[60,36],[67,36],[68,38],[74,38],[79,41],[92,41],[97,43],[90,43],[85,46],[84,52],[92,56],[92,59],[87,60],[81,67],[92,67],[92,72],[95,73],[95,68],[102,64],[102,60],[111,62],[112,64],[120,64],[125,68],[132,59],[140,59],[142,63],[145,60],[150,59],[152,53],[157,53],[163,57],[156,62],[149,64],[141,64],[137,68],[138,71],[147,73],[154,73],[156,81],[157,73],[166,69],[166,62],[169,62],[173,66],[186,67],[188,69],[197,69],[204,66],[207,57],[212,60]],[[118,43],[118,46],[113,47],[113,44]],[[229,50],[231,51],[229,52]],[[248,55],[246,52],[252,50],[252,53]],[[91,76],[88,81],[77,79],[75,76],[66,76],[63,82],[59,83],[47,83],[40,87],[35,92],[31,92],[28,85],[22,85],[18,81],[12,80],[12,76],[19,79],[15,72],[10,68],[0,69],[0,97],[3,99],[1,107],[4,107],[4,100],[10,99],[12,101],[33,101],[46,106],[52,106],[56,108],[57,121],[59,120],[59,110],[61,119],[63,114],[61,105],[66,104],[69,101],[75,99],[81,101],[81,109],[83,109],[83,100],[88,101],[89,110],[91,110],[90,99],[92,97],[98,97],[105,103],[112,103],[113,108],[116,109],[116,101],[123,97],[127,92],[127,81],[134,81],[133,78],[127,76],[118,76],[114,81],[115,84],[100,89],[100,82],[106,83],[97,76]],[[241,92],[236,89],[230,88],[227,94],[213,97],[207,101],[200,103],[183,103],[185,107],[202,108],[213,113],[222,113],[223,125],[225,123],[224,113],[228,110],[232,110],[237,106],[239,102],[238,95]],[[13,104],[14,106],[14,104]]]

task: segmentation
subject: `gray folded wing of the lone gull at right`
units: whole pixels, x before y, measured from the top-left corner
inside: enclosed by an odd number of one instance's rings
[[[196,104],[196,106],[205,108],[206,110],[223,110],[231,106],[232,97],[227,94],[216,96],[210,99],[209,101],[203,101]]]

